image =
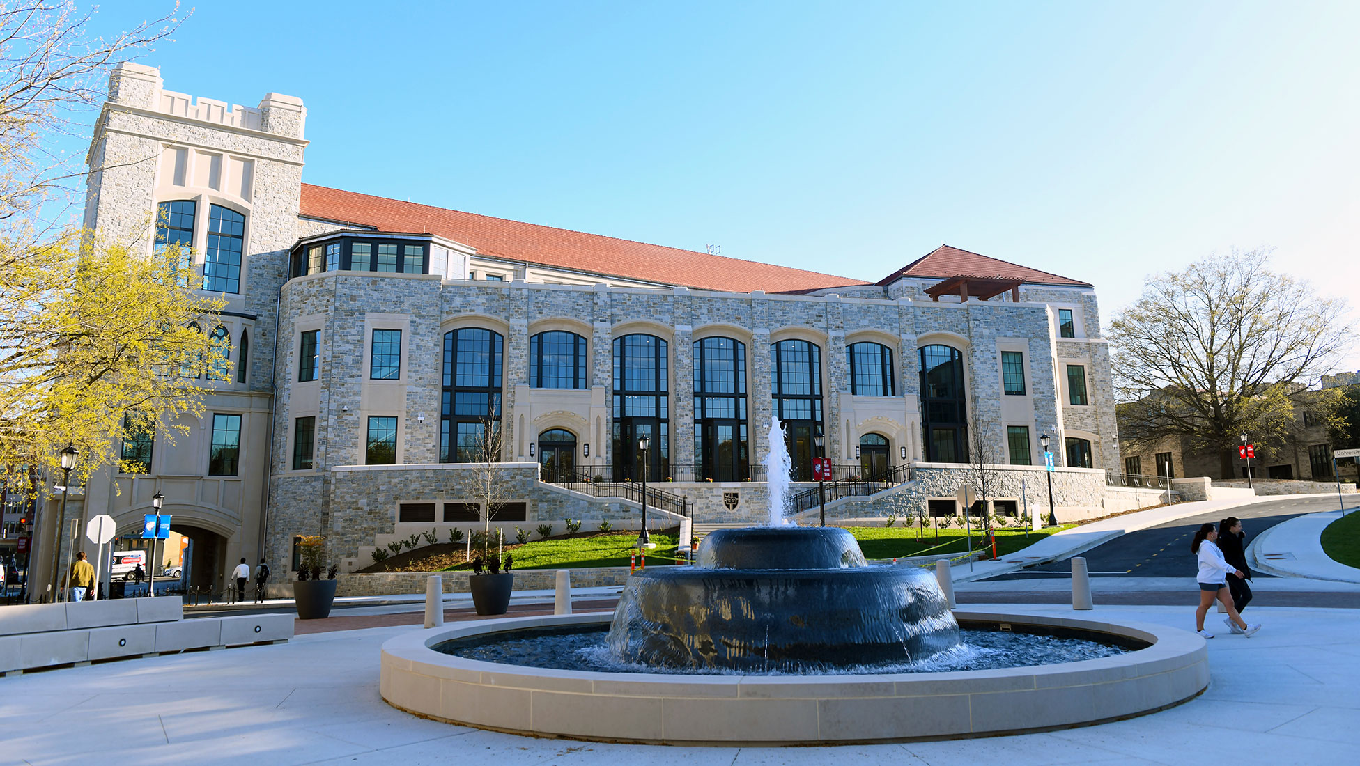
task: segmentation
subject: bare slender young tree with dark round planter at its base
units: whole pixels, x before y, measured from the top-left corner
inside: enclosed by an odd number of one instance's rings
[[[472,591],[472,606],[477,614],[505,614],[510,608],[510,591],[514,588],[514,574],[509,566],[500,566],[500,557],[490,553],[491,519],[500,512],[510,497],[510,485],[506,482],[505,471],[500,469],[500,455],[503,441],[500,436],[500,422],[486,418],[472,445],[475,467],[472,474],[471,494],[477,500],[477,513],[481,522],[481,557],[483,566],[473,561],[472,574],[468,577],[468,589]],[[507,557],[509,564],[509,557]]]

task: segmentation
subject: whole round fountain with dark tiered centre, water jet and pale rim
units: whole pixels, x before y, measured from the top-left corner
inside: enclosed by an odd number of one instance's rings
[[[925,570],[869,565],[846,530],[792,526],[778,420],[770,445],[768,527],[718,530],[694,566],[634,573],[612,615],[392,638],[384,698],[539,736],[811,744],[1089,724],[1179,704],[1208,685],[1204,638],[1183,630],[951,613]],[[966,671],[937,672],[953,668]]]

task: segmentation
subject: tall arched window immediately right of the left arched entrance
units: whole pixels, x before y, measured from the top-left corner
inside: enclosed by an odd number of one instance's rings
[[[646,471],[661,481],[670,470],[666,342],[656,335],[613,340],[613,478],[639,479],[647,437]]]

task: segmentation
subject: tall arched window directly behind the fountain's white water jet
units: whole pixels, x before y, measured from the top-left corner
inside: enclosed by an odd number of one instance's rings
[[[821,435],[821,349],[808,341],[779,341],[774,356],[774,412],[785,426],[794,481],[812,481],[813,439]]]

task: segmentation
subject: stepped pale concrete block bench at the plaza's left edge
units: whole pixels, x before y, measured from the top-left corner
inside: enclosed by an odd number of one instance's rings
[[[0,608],[0,672],[292,638],[291,614],[184,619],[175,598]]]

